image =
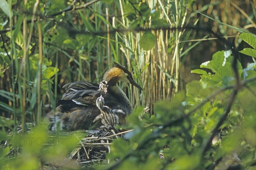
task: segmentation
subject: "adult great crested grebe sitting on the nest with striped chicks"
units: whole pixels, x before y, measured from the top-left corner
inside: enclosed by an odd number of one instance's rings
[[[96,106],[96,99],[102,96],[105,105],[114,110],[119,116],[119,123],[125,124],[125,116],[133,112],[131,102],[122,89],[117,86],[118,81],[130,83],[143,90],[135,83],[131,72],[125,67],[114,62],[114,66],[108,69],[100,84],[89,81],[76,81],[63,86],[65,93],[58,100],[58,107],[46,116],[50,121],[51,130],[88,130],[99,127],[102,122],[94,121],[101,114]]]

